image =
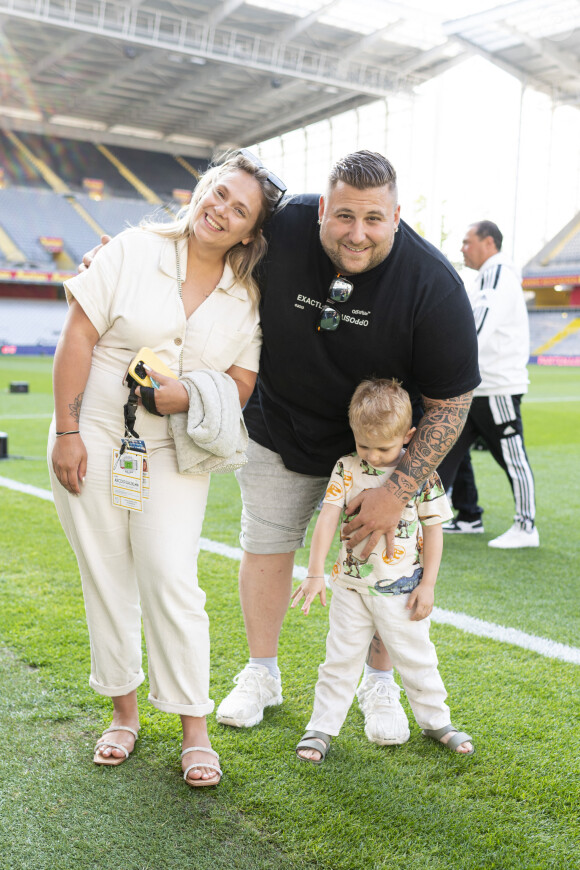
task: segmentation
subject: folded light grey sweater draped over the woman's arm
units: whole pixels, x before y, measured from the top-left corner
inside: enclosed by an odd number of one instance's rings
[[[189,410],[169,416],[180,473],[226,472],[245,465],[248,432],[235,381],[211,369],[189,372],[180,381]]]

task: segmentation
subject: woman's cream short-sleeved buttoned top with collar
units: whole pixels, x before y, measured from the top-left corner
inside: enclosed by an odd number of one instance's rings
[[[187,269],[187,240],[178,242],[180,273]],[[93,364],[122,377],[143,347],[176,374],[258,371],[262,343],[258,309],[226,266],[217,288],[186,319],[177,287],[175,245],[150,231],[129,229],[109,242],[90,269],[65,282],[99,333]]]

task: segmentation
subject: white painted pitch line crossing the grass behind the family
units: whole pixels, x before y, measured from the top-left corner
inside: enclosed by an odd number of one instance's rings
[[[16,480],[10,480],[7,477],[0,477],[0,486],[7,489],[23,492],[26,495],[34,495],[37,498],[42,498],[45,501],[54,501],[52,493],[47,489],[40,489],[37,486],[31,486],[28,483],[19,483]],[[217,556],[224,556],[226,559],[233,559],[239,562],[242,558],[242,550],[239,547],[230,547],[227,544],[222,544],[219,541],[210,541],[209,538],[200,538],[199,545],[202,550],[208,553],[214,553]],[[296,580],[304,580],[307,569],[299,565],[294,566],[294,578]],[[328,579],[328,578],[327,578]],[[570,662],[574,665],[580,665],[580,649],[574,646],[567,646],[564,643],[550,640],[547,637],[538,637],[535,634],[526,634],[525,631],[520,631],[517,628],[509,628],[503,625],[496,625],[494,622],[485,622],[483,619],[477,619],[474,616],[468,616],[466,613],[455,613],[452,610],[443,610],[441,607],[434,607],[431,614],[433,622],[441,623],[442,625],[452,625],[460,631],[465,631],[468,634],[474,634],[477,637],[488,637],[491,640],[497,640],[501,643],[509,643],[513,646],[519,646],[522,649],[530,650],[550,659],[559,659],[563,662]]]

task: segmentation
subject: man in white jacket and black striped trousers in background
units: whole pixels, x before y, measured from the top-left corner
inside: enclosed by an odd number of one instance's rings
[[[511,528],[489,546],[498,549],[538,547],[535,526],[534,476],[524,446],[521,417],[522,395],[528,390],[527,363],[530,352],[528,312],[517,267],[502,252],[503,236],[492,221],[468,227],[461,252],[465,265],[477,269],[469,290],[479,348],[481,384],[474,398],[463,432],[439,466],[446,489],[453,486],[465,453],[478,435],[505,471],[515,501]],[[462,501],[461,510],[447,531],[470,532],[481,526],[477,490],[473,504]],[[445,527],[444,527],[445,528]]]

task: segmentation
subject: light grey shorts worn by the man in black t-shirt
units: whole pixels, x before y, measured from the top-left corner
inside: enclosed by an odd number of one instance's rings
[[[246,453],[247,464],[236,471],[243,502],[243,549],[260,555],[300,549],[328,478],[289,471],[278,453],[255,441]]]

